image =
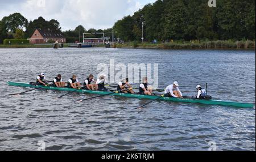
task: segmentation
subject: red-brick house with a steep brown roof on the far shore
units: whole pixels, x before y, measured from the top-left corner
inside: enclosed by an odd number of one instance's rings
[[[30,44],[45,44],[48,42],[65,43],[66,39],[60,30],[56,29],[36,29],[33,35],[28,39]]]

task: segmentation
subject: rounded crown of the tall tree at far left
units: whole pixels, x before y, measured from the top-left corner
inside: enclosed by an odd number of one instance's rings
[[[28,21],[20,13],[14,13],[9,16],[5,16],[2,19],[7,31],[15,32],[16,29],[27,28]]]

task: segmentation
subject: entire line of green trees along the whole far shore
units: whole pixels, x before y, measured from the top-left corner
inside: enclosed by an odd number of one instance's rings
[[[105,36],[124,41],[255,40],[255,0],[158,0],[118,20],[113,28],[86,29],[79,25],[64,31],[67,42],[82,41],[82,33],[104,32]],[[142,35],[143,23],[143,35]],[[36,28],[61,30],[57,20],[39,17],[34,21],[19,13],[0,20],[0,43],[4,39],[27,39]],[[87,35],[101,37],[102,35]]]

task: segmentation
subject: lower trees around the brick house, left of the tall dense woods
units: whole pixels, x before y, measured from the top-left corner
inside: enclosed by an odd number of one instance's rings
[[[20,13],[14,13],[9,16],[5,16],[0,20],[0,43],[5,39],[28,39],[32,36],[37,28],[51,28],[61,30],[60,23],[55,20],[45,20],[42,16],[35,20],[28,20],[24,18]],[[79,25],[73,30],[64,31],[64,37],[67,38],[67,42],[82,41],[82,33],[105,33],[105,36],[112,36],[112,29],[94,29],[91,28],[88,31]],[[86,37],[102,37],[102,35],[91,34]]]

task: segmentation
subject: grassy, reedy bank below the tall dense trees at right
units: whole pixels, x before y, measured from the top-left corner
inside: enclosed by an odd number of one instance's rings
[[[155,49],[255,49],[255,41],[191,41],[152,44],[148,42],[117,44],[116,48],[155,48]]]

